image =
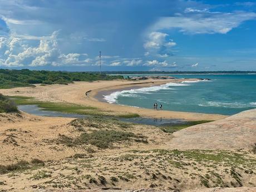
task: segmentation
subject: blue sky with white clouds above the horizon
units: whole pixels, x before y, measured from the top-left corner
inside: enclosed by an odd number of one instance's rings
[[[0,68],[256,71],[256,1],[0,0]]]

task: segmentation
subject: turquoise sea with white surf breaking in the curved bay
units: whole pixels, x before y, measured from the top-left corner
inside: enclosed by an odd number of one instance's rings
[[[133,75],[129,75],[133,76]],[[256,108],[256,75],[170,75],[211,81],[168,83],[106,95],[107,102],[152,109],[233,115]]]

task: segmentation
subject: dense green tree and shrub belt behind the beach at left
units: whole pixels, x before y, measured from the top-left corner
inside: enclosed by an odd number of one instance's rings
[[[96,72],[30,71],[0,69],[0,88],[28,87],[33,84],[67,84],[73,81],[116,80],[122,76],[110,76]]]

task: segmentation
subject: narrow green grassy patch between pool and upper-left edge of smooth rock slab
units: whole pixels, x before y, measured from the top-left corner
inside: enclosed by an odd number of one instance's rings
[[[161,130],[164,131],[164,132],[169,132],[170,134],[172,134],[175,131],[185,129],[186,127],[190,127],[190,126],[193,126],[193,125],[199,125],[199,124],[205,124],[206,122],[211,122],[211,121],[209,121],[209,120],[188,121],[185,124],[163,126],[163,127],[161,127]]]

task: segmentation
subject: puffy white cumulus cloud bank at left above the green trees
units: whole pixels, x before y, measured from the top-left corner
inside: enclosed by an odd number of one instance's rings
[[[11,34],[0,38],[0,65],[16,66],[61,66],[86,62],[81,60],[84,54],[61,53],[57,42],[58,31],[47,37],[22,36]],[[38,46],[29,46],[27,40],[38,40]]]

